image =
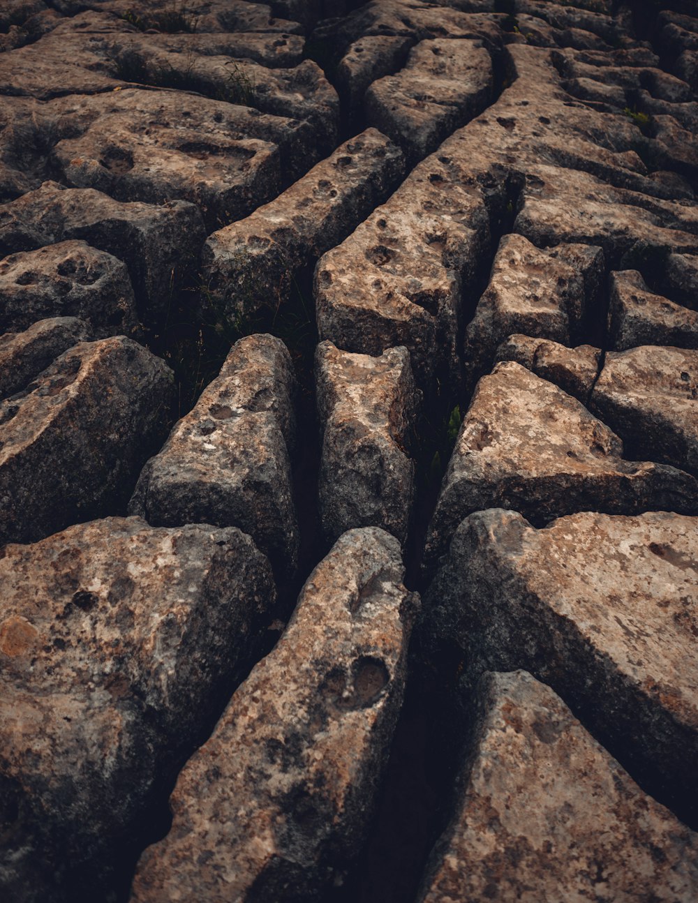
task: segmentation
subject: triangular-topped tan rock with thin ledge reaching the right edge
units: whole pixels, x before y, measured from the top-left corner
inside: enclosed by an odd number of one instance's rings
[[[514,508],[537,524],[590,507],[693,513],[698,481],[674,467],[625,461],[619,437],[575,398],[504,362],[480,379],[463,418],[427,556],[445,550],[463,517],[489,507]]]

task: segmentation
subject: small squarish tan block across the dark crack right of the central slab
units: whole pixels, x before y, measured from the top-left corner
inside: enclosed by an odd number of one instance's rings
[[[589,313],[587,302],[593,311],[602,276],[603,253],[598,247],[558,245],[538,250],[523,236],[503,237],[488,287],[465,331],[470,379],[489,369],[499,342],[513,333],[563,345],[578,340]],[[590,293],[588,285],[593,285]]]

